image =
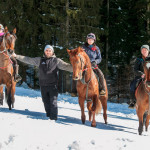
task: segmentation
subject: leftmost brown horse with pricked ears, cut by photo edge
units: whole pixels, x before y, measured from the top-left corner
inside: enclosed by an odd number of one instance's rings
[[[11,107],[14,107],[16,82],[14,82],[13,66],[8,54],[10,51],[14,51],[16,28],[12,33],[9,33],[7,27],[5,27],[4,33],[3,40],[0,42],[0,105],[3,105],[3,86],[6,86],[5,99],[9,110],[11,110]]]

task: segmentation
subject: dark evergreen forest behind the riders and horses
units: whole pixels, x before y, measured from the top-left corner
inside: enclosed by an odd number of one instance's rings
[[[95,33],[109,100],[124,102],[134,78],[134,60],[143,44],[150,45],[150,0],[0,0],[0,23],[17,28],[16,54],[39,57],[51,44],[66,62],[66,49],[82,46],[86,35]],[[19,73],[21,83],[39,88],[35,68],[20,64]],[[72,83],[71,74],[66,76],[60,71],[60,93],[71,92],[65,86]]]

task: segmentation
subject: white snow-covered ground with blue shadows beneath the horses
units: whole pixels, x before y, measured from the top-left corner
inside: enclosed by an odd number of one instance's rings
[[[138,135],[138,119],[127,104],[108,102],[108,124],[102,114],[91,127],[81,123],[78,98],[59,94],[58,120],[45,115],[40,91],[16,88],[15,108],[0,106],[0,150],[141,150],[150,146],[150,133]],[[86,103],[85,103],[86,106]]]

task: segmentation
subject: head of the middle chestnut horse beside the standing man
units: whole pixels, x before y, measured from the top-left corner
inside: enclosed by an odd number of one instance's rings
[[[84,50],[81,47],[76,49],[68,50],[67,52],[70,56],[70,62],[73,67],[73,79],[80,80],[82,79],[82,73],[85,69],[86,59],[84,57]]]

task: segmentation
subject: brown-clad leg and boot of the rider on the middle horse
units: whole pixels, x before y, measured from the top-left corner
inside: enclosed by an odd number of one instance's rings
[[[99,94],[100,95],[105,95],[106,94],[106,89],[105,89],[105,84],[104,84],[104,75],[102,73],[102,71],[98,68],[97,69],[97,72],[98,72],[98,77],[99,77],[99,81],[100,81],[100,84],[101,86],[99,86]]]

